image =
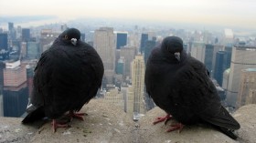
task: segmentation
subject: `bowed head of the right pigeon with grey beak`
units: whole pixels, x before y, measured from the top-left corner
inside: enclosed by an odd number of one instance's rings
[[[161,49],[164,52],[174,55],[180,61],[180,55],[183,51],[183,41],[177,36],[167,36],[162,42]]]

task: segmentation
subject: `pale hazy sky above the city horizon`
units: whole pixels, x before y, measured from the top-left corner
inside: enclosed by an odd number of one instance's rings
[[[0,15],[129,18],[255,29],[256,0],[1,0]]]

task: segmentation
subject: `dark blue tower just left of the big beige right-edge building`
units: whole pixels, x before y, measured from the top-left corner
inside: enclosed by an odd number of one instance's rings
[[[219,51],[216,54],[213,77],[217,80],[220,87],[222,87],[223,73],[227,67],[227,53],[225,51]]]

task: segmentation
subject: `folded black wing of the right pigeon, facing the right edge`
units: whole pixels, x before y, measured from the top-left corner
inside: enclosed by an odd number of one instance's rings
[[[179,71],[176,80],[180,94],[194,114],[213,125],[238,129],[240,124],[221,106],[218,91],[208,77],[206,66],[196,58],[187,59],[187,65]]]

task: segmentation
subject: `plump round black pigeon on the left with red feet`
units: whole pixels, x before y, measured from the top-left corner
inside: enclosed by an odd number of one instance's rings
[[[23,124],[42,118],[52,119],[53,131],[68,127],[59,117],[78,117],[80,108],[95,97],[104,73],[96,50],[80,40],[80,31],[69,28],[61,33],[39,58],[33,91]]]

